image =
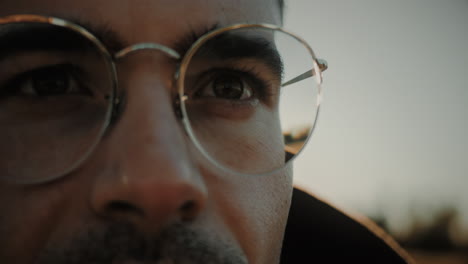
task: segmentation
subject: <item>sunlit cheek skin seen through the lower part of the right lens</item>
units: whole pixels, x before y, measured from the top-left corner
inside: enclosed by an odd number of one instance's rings
[[[244,120],[202,118],[193,112],[188,115],[195,140],[219,165],[244,174],[262,174],[284,165],[284,141],[276,111],[260,105]]]

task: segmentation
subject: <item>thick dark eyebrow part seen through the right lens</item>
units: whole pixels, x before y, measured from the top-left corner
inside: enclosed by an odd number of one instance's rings
[[[273,36],[223,33],[203,44],[196,57],[203,59],[233,60],[255,59],[266,66],[274,76],[282,79],[283,62],[274,45]]]

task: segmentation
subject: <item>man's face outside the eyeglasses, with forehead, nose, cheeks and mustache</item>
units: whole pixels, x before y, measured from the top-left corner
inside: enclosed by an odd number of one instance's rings
[[[213,25],[280,23],[275,0],[0,3],[0,16],[25,13],[168,47]],[[78,169],[45,184],[0,182],[0,263],[277,262],[290,171],[240,177],[210,169],[174,115],[177,61],[151,51],[117,67],[125,107]]]

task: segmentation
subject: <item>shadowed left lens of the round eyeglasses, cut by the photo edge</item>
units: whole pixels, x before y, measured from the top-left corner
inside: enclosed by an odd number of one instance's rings
[[[77,31],[0,25],[0,178],[33,183],[69,173],[99,140],[112,89],[108,61]]]

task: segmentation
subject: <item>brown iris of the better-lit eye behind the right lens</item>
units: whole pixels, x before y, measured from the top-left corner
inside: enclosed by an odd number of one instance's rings
[[[240,99],[244,94],[244,84],[237,76],[222,76],[213,82],[213,91],[220,98]]]

